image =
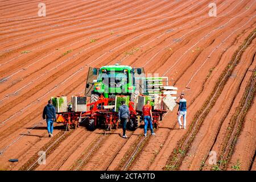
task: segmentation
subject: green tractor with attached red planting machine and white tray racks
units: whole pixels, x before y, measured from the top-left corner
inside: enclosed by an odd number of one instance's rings
[[[143,68],[123,65],[89,68],[84,100],[90,97],[90,103],[83,102],[84,109],[78,111],[70,105],[67,111],[57,111],[56,122],[63,123],[68,130],[79,127],[80,123],[90,131],[97,127],[117,129],[122,123],[118,122],[115,107],[118,107],[118,98],[124,97],[130,111],[127,129],[134,131],[141,125],[142,106],[147,100],[151,101],[152,122],[157,128],[164,113],[175,106],[173,95],[176,93],[177,88],[168,86],[168,77],[145,77]]]

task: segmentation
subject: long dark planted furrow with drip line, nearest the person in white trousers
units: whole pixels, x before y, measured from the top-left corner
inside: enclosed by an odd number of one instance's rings
[[[189,130],[187,133],[182,137],[179,141],[178,146],[175,148],[175,150],[172,152],[172,155],[170,156],[165,169],[177,169],[179,168],[182,159],[184,158],[184,155],[187,154],[189,147],[193,140],[195,139],[195,136],[200,129],[201,123],[204,121],[204,118],[207,117],[207,114],[209,113],[209,110],[214,106],[218,96],[221,94],[224,85],[228,81],[228,78],[232,74],[232,71],[236,67],[237,63],[240,61],[239,57],[238,59],[235,58],[237,57],[238,53],[242,54],[242,52],[246,49],[247,46],[251,43],[251,40],[255,38],[255,31],[251,32],[251,34],[247,37],[245,42],[243,42],[243,45],[240,46],[238,51],[236,51],[233,55],[232,60],[226,67],[225,71],[222,72],[221,77],[218,79],[219,81],[217,84],[214,86],[213,92],[210,94],[208,97],[209,100],[207,100],[203,107],[197,113],[195,114],[195,117],[191,123],[191,126],[189,127]],[[241,55],[240,55],[241,56]],[[180,154],[177,154],[175,151],[180,151]]]

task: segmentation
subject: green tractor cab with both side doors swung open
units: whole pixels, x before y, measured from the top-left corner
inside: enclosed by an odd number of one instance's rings
[[[91,97],[91,101],[97,101],[101,94],[105,98],[117,94],[130,96],[135,90],[141,94],[147,91],[143,68],[118,64],[89,68],[85,96]]]

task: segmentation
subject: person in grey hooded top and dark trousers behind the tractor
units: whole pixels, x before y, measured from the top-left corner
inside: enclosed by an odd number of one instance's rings
[[[121,101],[121,106],[118,109],[118,122],[122,122],[123,126],[123,138],[127,138],[125,132],[126,132],[126,124],[128,122],[130,112],[127,105],[125,105],[125,101]]]

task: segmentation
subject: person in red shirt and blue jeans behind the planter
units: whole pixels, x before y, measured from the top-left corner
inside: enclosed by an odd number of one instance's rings
[[[152,125],[152,107],[150,105],[150,100],[147,100],[147,104],[142,108],[143,116],[144,116],[144,137],[147,137],[147,125],[150,123],[151,135],[155,136],[153,125]]]

